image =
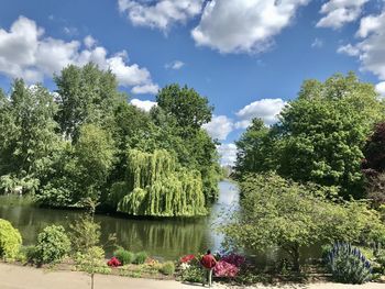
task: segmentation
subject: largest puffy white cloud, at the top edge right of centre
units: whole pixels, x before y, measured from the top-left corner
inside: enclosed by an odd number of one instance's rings
[[[211,0],[191,35],[197,45],[221,53],[262,52],[309,1]]]

